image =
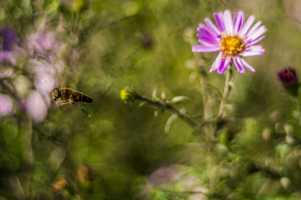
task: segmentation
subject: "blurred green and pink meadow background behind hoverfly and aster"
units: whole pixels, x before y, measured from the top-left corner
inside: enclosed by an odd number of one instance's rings
[[[208,73],[217,53],[191,48],[198,24],[225,9],[268,31],[264,55],[246,58],[256,72],[234,70],[227,118],[210,125],[202,88],[216,116],[225,75]],[[0,199],[300,199],[300,111],[276,74],[300,73],[300,10],[300,0],[2,0]],[[203,131],[123,103],[127,85],[189,97],[173,106]],[[93,97],[79,103],[92,117],[58,107],[56,87]]]

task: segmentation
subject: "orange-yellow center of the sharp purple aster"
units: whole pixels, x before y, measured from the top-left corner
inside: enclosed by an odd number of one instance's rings
[[[222,38],[219,39],[220,48],[226,55],[236,55],[244,49],[244,42],[240,36],[231,36],[231,34],[225,35],[222,33]]]

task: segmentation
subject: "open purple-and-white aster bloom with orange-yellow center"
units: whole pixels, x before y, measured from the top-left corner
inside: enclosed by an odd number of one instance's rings
[[[254,68],[250,66],[242,56],[262,55],[265,51],[261,45],[256,45],[265,36],[265,26],[260,26],[261,21],[253,24],[255,16],[251,15],[246,22],[244,12],[238,11],[232,15],[230,10],[225,10],[219,13],[213,13],[216,25],[205,18],[205,26],[200,23],[197,31],[198,42],[202,45],[195,45],[192,47],[193,52],[217,52],[218,56],[213,62],[209,72],[216,70],[217,73],[222,74],[227,69],[231,60],[233,60],[237,70],[244,73],[244,67],[255,72]],[[252,26],[252,27],[251,27]]]

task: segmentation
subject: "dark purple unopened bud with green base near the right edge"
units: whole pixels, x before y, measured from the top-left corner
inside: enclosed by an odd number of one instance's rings
[[[278,72],[278,77],[284,88],[290,94],[296,96],[299,88],[296,70],[292,67],[284,68]]]

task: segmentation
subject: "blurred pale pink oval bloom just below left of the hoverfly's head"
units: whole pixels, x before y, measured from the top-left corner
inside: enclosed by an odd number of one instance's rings
[[[27,114],[34,122],[39,123],[47,116],[47,106],[42,95],[37,90],[32,90],[25,101],[25,109]]]

